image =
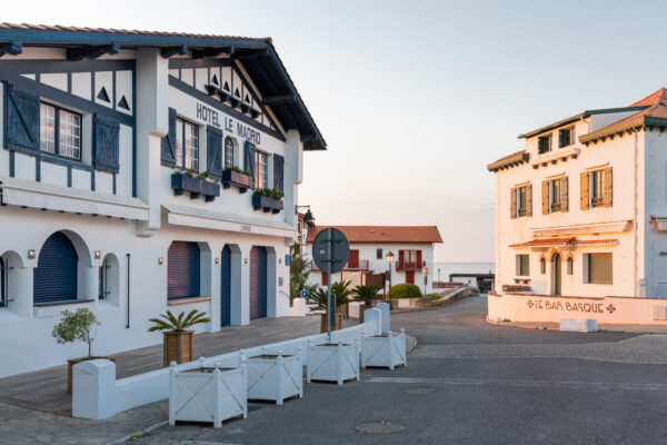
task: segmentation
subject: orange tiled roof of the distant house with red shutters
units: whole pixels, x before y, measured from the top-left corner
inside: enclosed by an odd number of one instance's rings
[[[442,243],[437,226],[315,226],[307,243],[329,227],[342,231],[350,243]]]

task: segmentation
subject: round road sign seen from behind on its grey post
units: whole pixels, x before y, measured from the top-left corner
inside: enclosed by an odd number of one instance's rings
[[[331,326],[336,326],[336,300],[331,298],[331,274],[340,271],[347,264],[350,245],[345,234],[327,228],[317,234],[312,241],[312,259],[320,270],[327,273],[327,334],[331,340]]]

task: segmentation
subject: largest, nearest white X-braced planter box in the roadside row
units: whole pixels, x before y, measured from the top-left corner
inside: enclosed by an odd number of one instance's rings
[[[199,367],[177,372],[176,363],[169,369],[169,425],[176,421],[212,422],[248,417],[246,365],[240,368]]]

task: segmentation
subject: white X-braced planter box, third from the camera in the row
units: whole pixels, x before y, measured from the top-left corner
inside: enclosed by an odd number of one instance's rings
[[[359,345],[327,343],[308,348],[307,380],[344,382],[359,379]]]

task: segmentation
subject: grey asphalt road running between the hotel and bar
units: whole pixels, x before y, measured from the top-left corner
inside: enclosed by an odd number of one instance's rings
[[[494,326],[485,307],[472,297],[395,315],[392,328],[419,342],[406,368],[366,370],[342,387],[307,385],[302,399],[253,404],[248,419],[220,429],[186,424],[133,443],[667,443],[667,336]],[[405,432],[354,429],[378,421]]]

